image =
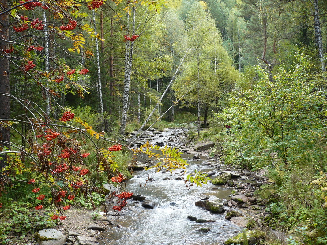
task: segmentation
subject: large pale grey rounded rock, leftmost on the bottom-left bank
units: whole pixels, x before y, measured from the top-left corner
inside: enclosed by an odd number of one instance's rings
[[[63,245],[66,242],[66,237],[55,229],[38,231],[35,238],[40,245]]]

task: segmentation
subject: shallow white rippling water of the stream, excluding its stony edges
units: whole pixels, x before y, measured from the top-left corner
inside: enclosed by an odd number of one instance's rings
[[[153,137],[156,141],[171,146],[178,146],[179,142],[168,142],[169,138],[180,139],[181,129],[173,129]],[[201,157],[200,160],[192,158],[193,155],[184,154],[189,166],[187,172],[219,171],[219,164],[213,159]],[[179,172],[179,171],[177,171]],[[146,199],[158,202],[154,209],[141,207],[140,201],[129,200],[129,209],[119,217],[119,224],[123,228],[113,226],[103,233],[101,245],[220,245],[234,236],[241,228],[224,218],[224,214],[212,214],[203,207],[195,206],[195,202],[204,197],[219,198],[226,201],[232,188],[218,187],[208,183],[202,187],[192,186],[186,188],[184,181],[176,180],[178,175],[171,173],[149,171],[135,171],[134,178],[126,182],[126,188]],[[148,181],[148,177],[153,181]],[[144,184],[146,183],[146,186]],[[135,207],[136,206],[136,207]],[[213,220],[215,222],[196,223],[187,216],[197,219]],[[210,228],[207,233],[199,231],[200,228]]]

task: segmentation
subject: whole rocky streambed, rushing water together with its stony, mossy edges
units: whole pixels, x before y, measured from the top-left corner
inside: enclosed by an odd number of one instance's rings
[[[133,178],[124,183],[134,195],[127,209],[119,212],[119,221],[113,212],[107,216],[100,212],[104,216],[98,217],[92,227],[84,225],[87,235],[68,233],[60,245],[242,244],[244,228],[250,229],[249,244],[265,236],[260,227],[268,213],[264,200],[253,193],[266,178],[260,173],[230,169],[213,159],[208,155],[212,142],[185,146],[186,133],[187,129],[182,128],[150,131],[135,144],[149,141],[178,147],[189,164],[186,172],[206,172],[212,182],[187,188],[183,170],[145,171],[147,164],[139,159]],[[115,191],[109,184],[106,188]],[[107,209],[112,210],[112,205],[114,202],[108,203]]]

